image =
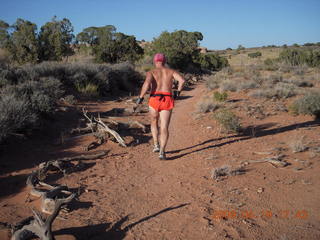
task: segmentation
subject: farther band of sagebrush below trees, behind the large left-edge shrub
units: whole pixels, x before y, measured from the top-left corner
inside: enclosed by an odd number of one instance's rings
[[[106,65],[43,62],[23,66],[22,70],[32,79],[50,76],[59,79],[66,88],[77,90],[88,84],[96,85],[100,96],[117,94],[119,91],[133,91],[142,78],[130,63]]]

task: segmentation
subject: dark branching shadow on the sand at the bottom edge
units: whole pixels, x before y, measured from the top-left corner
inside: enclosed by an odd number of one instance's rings
[[[140,220],[138,220],[134,223],[131,223],[131,224],[127,225],[126,227],[122,227],[122,225],[129,220],[129,215],[121,218],[119,221],[117,221],[113,225],[111,223],[101,223],[101,224],[89,225],[89,226],[84,226],[84,227],[72,227],[72,228],[66,228],[66,229],[61,229],[61,230],[55,231],[53,233],[53,235],[58,236],[58,235],[68,234],[68,235],[73,235],[78,240],[82,240],[82,239],[83,240],[85,240],[85,239],[121,240],[121,239],[125,238],[127,232],[131,228],[133,228],[134,226],[136,226],[142,222],[148,221],[152,218],[155,218],[162,213],[172,211],[172,210],[175,210],[178,208],[182,208],[187,205],[189,205],[189,203],[180,204],[175,207],[165,208],[157,213],[154,213],[152,215],[141,218]],[[111,225],[112,225],[112,227],[110,228]],[[110,229],[108,229],[108,228],[110,228]]]

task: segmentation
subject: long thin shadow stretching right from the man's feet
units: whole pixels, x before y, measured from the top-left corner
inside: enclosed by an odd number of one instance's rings
[[[244,129],[242,134],[239,135],[232,135],[232,136],[227,136],[227,137],[221,137],[221,138],[214,138],[214,139],[210,139],[210,140],[206,140],[202,143],[190,146],[190,147],[186,147],[186,148],[182,148],[182,149],[178,149],[178,150],[174,150],[174,151],[168,151],[168,154],[174,154],[174,153],[179,153],[181,151],[184,150],[189,150],[189,149],[193,149],[211,142],[216,142],[216,141],[221,141],[224,139],[230,139],[230,138],[236,138],[230,141],[226,141],[226,142],[222,142],[222,143],[218,143],[218,144],[214,144],[214,145],[210,145],[210,146],[206,146],[203,148],[199,148],[187,153],[182,153],[179,155],[175,155],[172,157],[167,157],[167,160],[176,160],[179,159],[181,157],[184,157],[186,155],[192,154],[192,153],[197,153],[197,152],[201,152],[203,150],[206,149],[211,149],[211,148],[216,148],[216,147],[222,147],[226,144],[232,144],[234,142],[238,142],[238,141],[245,141],[245,140],[249,140],[252,138],[259,138],[259,137],[264,137],[264,136],[268,136],[268,135],[275,135],[275,134],[279,134],[279,133],[283,133],[283,132],[287,132],[287,131],[292,131],[292,130],[296,130],[299,128],[304,128],[304,127],[317,127],[320,126],[320,121],[319,120],[313,120],[313,121],[307,121],[304,123],[297,123],[297,124],[291,124],[288,126],[284,126],[284,127],[279,127],[279,128],[272,128],[272,129],[268,129],[272,126],[274,126],[274,123],[267,123],[267,124],[262,124],[262,125],[256,125],[256,126],[249,126],[246,129]]]

